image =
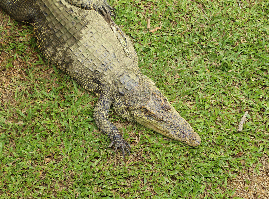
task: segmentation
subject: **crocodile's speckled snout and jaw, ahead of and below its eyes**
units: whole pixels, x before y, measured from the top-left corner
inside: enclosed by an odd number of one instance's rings
[[[141,111],[133,111],[134,120],[166,137],[178,140],[190,146],[198,146],[201,143],[200,136],[191,128],[190,124],[183,119],[170,105],[171,111],[163,116],[163,121],[156,121]]]

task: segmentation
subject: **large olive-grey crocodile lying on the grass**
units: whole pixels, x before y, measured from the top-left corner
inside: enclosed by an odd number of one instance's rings
[[[130,145],[109,120],[112,107],[126,120],[200,145],[200,136],[141,73],[133,43],[114,23],[106,0],[0,0],[0,6],[15,20],[32,24],[44,57],[98,97],[94,121],[115,152],[120,149],[124,157]]]

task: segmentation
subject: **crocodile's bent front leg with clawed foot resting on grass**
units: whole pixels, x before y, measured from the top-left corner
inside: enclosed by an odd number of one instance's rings
[[[131,146],[119,134],[117,127],[108,119],[111,104],[112,101],[109,98],[105,96],[99,97],[94,108],[94,121],[98,128],[110,138],[111,144],[109,147],[115,145],[115,152],[120,148],[124,157],[125,151],[130,155],[129,149]]]

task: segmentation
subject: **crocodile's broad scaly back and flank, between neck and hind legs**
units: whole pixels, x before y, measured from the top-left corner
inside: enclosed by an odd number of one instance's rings
[[[95,94],[126,70],[137,71],[136,53],[126,56],[104,18],[64,0],[37,0],[43,22],[33,23],[39,49],[58,68]],[[126,36],[129,40],[128,36]],[[97,84],[98,83],[98,84]],[[111,84],[111,83],[110,83]]]

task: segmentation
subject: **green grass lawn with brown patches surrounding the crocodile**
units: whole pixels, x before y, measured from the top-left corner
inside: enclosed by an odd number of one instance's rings
[[[48,63],[31,26],[1,13],[0,199],[248,198],[233,181],[259,175],[269,160],[269,2],[109,3],[141,71],[201,145],[170,140],[112,110],[132,147],[129,157],[115,154],[93,121],[96,96]],[[150,29],[161,29],[150,33],[147,18]],[[256,183],[243,182],[245,191]],[[262,198],[255,186],[252,198]]]

